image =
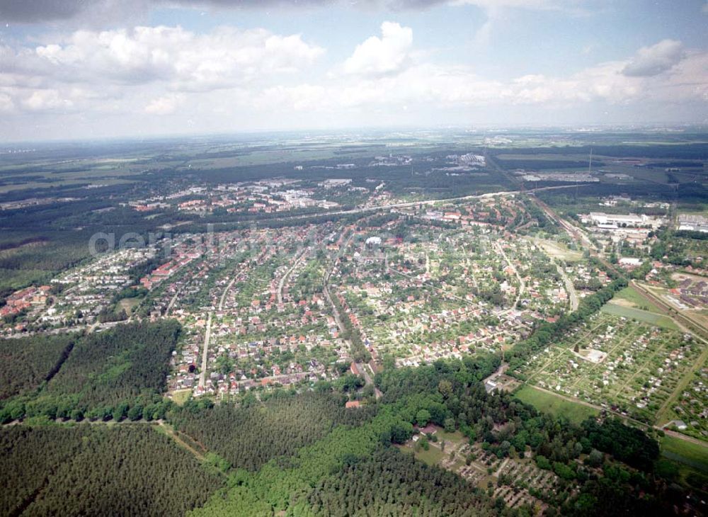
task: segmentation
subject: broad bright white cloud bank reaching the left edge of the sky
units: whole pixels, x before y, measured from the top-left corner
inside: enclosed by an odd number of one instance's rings
[[[0,45],[0,106],[69,110],[100,106],[96,100],[108,92],[115,99],[140,87],[160,93],[255,87],[307,69],[323,53],[300,35],[264,29],[82,29],[35,47]],[[177,98],[151,103],[147,112],[166,113]]]

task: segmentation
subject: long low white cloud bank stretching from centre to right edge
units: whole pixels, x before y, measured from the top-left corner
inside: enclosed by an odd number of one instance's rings
[[[670,75],[627,76],[629,60],[605,62],[568,76],[527,74],[508,81],[479,76],[465,65],[413,64],[398,74],[340,77],[325,86],[281,86],[256,94],[257,106],[285,110],[380,109],[428,106],[577,108],[590,103],[624,106],[637,101],[706,101],[708,52],[694,52]]]

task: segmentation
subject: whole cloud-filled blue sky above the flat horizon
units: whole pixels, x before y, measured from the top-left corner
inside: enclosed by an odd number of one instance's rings
[[[703,0],[0,0],[0,140],[708,123]]]

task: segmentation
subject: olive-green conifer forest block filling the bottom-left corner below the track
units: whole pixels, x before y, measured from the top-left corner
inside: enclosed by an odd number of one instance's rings
[[[224,484],[152,426],[0,431],[1,515],[180,516]]]

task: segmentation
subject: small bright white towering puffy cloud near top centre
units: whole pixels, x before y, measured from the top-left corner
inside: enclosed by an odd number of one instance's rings
[[[410,62],[413,30],[399,23],[384,21],[381,38],[372,36],[354,49],[344,62],[346,74],[377,76],[401,72]]]

